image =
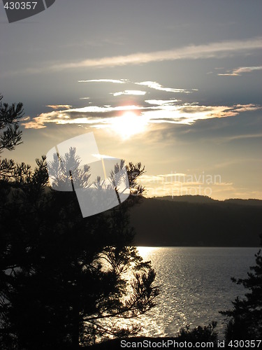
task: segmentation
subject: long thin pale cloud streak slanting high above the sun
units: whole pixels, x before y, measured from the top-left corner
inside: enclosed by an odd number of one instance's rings
[[[83,67],[105,67],[105,66],[124,66],[126,64],[145,64],[150,62],[173,61],[176,59],[207,59],[232,57],[240,53],[250,55],[251,50],[261,49],[261,37],[250,38],[247,40],[220,41],[217,43],[208,43],[205,45],[187,45],[181,48],[171,50],[137,52],[131,55],[96,57],[94,59],[85,59],[79,62],[68,62],[53,64],[49,69],[61,71],[64,69],[77,69]],[[108,79],[105,79],[108,80]],[[114,79],[112,79],[114,80]],[[96,80],[80,80],[80,82]],[[121,80],[116,80],[119,83]],[[112,83],[114,81],[111,81]]]

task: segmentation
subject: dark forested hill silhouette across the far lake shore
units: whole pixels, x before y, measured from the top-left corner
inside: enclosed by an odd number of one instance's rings
[[[261,200],[143,198],[131,211],[139,246],[259,246]]]

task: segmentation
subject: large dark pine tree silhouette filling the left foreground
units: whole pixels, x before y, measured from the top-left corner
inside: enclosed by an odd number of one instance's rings
[[[48,186],[45,157],[36,163],[34,170],[13,160],[0,167],[1,349],[78,349],[136,335],[133,318],[154,307],[159,294],[129,227],[143,167],[127,166],[135,195],[82,218],[74,192]]]

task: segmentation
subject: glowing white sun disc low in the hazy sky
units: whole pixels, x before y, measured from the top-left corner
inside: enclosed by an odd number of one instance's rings
[[[131,111],[125,112],[120,117],[115,117],[110,123],[111,129],[119,134],[122,139],[129,139],[131,136],[145,132],[147,120],[145,116],[138,116]]]

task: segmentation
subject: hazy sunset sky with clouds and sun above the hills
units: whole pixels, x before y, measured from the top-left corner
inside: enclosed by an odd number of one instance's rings
[[[141,162],[148,197],[262,200],[262,2],[56,0],[8,23],[0,94],[22,102],[27,162],[94,132],[99,152]]]

